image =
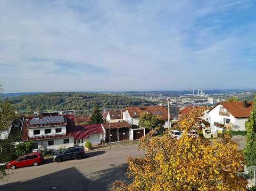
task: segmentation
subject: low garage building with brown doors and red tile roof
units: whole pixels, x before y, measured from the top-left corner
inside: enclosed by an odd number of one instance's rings
[[[109,142],[109,131],[111,142],[135,140],[145,136],[145,128],[131,125],[128,122],[110,122],[101,125],[104,130],[104,139],[107,143]]]

